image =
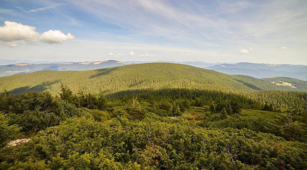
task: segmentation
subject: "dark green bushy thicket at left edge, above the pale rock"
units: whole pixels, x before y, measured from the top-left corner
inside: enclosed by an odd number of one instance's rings
[[[31,133],[53,126],[57,121],[78,115],[75,105],[54,99],[49,92],[25,92],[19,95],[0,95],[1,111],[10,117],[9,124],[18,124]]]

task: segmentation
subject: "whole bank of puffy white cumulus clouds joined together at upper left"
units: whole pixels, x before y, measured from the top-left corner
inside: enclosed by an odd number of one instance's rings
[[[24,40],[26,42],[35,43],[38,40],[44,43],[63,43],[66,40],[73,40],[75,37],[68,33],[65,35],[59,30],[49,30],[42,34],[35,31],[34,26],[24,25],[21,23],[5,21],[3,26],[0,26],[0,41],[6,42],[9,47],[17,47],[18,44],[14,41]]]

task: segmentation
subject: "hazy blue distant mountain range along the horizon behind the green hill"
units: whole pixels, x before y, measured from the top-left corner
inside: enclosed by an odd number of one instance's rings
[[[12,63],[13,60],[0,60],[0,63]],[[16,61],[15,61],[16,62]],[[31,61],[28,61],[31,62]],[[185,64],[203,69],[209,69],[226,74],[249,75],[255,78],[290,77],[307,81],[306,65],[289,64],[256,64],[256,63],[205,63],[205,62],[174,62],[174,61],[128,61],[115,60],[96,62],[57,62],[57,63],[18,63],[0,65],[0,77],[17,73],[32,73],[42,70],[52,71],[86,71],[111,68],[129,64],[167,62]],[[36,63],[36,64],[33,64]]]

